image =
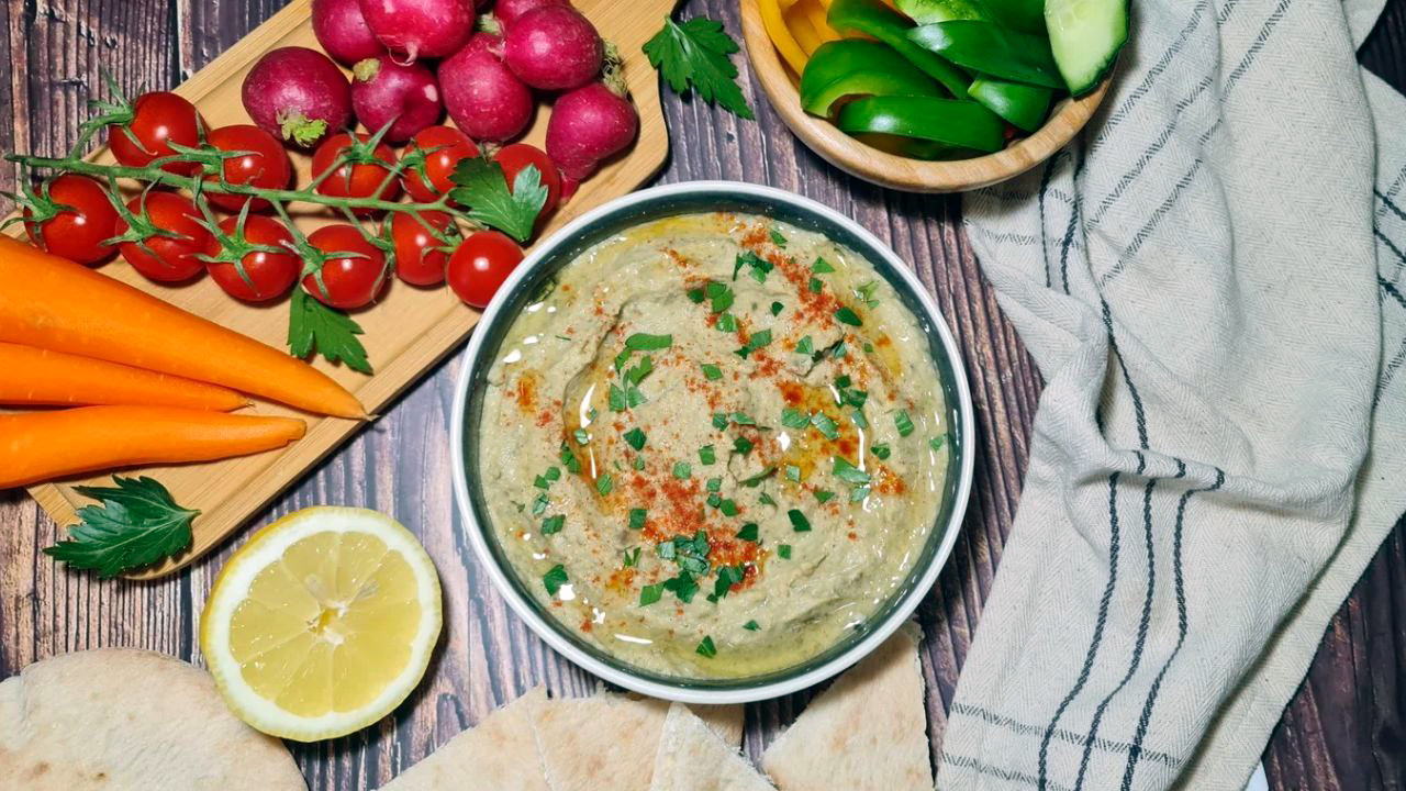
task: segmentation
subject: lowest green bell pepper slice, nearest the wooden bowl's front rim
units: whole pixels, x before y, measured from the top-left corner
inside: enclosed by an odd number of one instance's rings
[[[898,135],[974,151],[1001,151],[1005,121],[976,101],[931,96],[856,99],[835,121],[849,135]]]

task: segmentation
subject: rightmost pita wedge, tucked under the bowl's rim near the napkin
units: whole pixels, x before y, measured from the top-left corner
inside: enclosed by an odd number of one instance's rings
[[[917,625],[898,629],[806,707],[762,756],[782,791],[932,791]]]

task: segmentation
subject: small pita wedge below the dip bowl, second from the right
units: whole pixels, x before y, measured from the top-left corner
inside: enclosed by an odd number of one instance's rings
[[[773,791],[737,747],[682,704],[669,707],[650,791]]]

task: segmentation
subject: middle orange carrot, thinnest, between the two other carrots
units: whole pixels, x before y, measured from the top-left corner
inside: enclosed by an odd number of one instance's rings
[[[0,404],[141,404],[217,412],[249,404],[228,387],[18,343],[0,343]]]

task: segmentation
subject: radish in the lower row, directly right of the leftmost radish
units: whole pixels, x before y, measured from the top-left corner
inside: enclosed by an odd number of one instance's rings
[[[440,101],[434,73],[425,63],[402,66],[389,56],[367,58],[352,69],[352,108],[366,128],[387,124],[385,139],[405,142],[439,121]]]

